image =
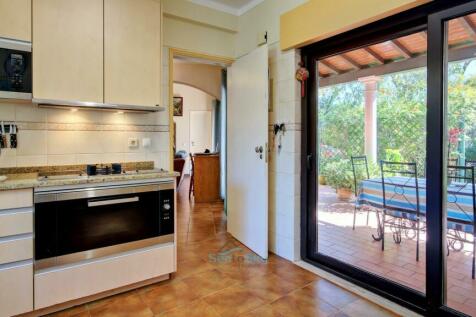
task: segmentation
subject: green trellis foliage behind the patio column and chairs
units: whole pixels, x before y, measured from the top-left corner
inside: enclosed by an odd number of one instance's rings
[[[476,59],[452,62],[448,69],[448,150],[461,161],[476,160]],[[378,160],[416,162],[420,176],[426,159],[426,77],[424,68],[381,76],[377,95]],[[363,88],[354,81],[319,89],[321,175],[335,171],[335,161],[364,154]]]

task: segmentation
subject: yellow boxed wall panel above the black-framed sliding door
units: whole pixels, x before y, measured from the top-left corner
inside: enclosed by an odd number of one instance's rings
[[[310,44],[431,0],[310,0],[281,16],[281,49]]]

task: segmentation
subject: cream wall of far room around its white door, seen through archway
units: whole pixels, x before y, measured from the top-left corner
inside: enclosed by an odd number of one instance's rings
[[[183,116],[174,117],[176,123],[177,151],[185,150],[190,153],[190,111],[212,111],[215,98],[191,86],[174,84],[174,96],[183,97]],[[186,171],[190,166],[187,160]]]

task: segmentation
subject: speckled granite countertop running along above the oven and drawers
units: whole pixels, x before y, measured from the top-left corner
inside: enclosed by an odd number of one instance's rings
[[[67,186],[79,184],[97,184],[127,180],[156,179],[156,178],[173,178],[178,176],[178,172],[154,171],[139,174],[117,174],[117,175],[96,175],[96,176],[71,176],[59,179],[39,179],[38,173],[17,173],[6,174],[7,180],[0,182],[0,191],[48,187],[48,186]]]

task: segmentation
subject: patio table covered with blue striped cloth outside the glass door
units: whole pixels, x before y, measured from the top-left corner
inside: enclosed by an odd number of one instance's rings
[[[420,221],[426,218],[426,179],[418,178]],[[385,178],[387,214],[397,218],[417,220],[416,186],[413,178],[395,176]],[[448,229],[473,233],[472,184],[453,182],[448,187]],[[383,208],[382,179],[371,178],[360,183],[356,206],[364,205]]]

